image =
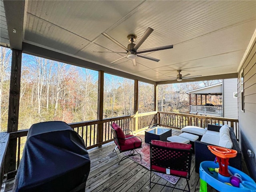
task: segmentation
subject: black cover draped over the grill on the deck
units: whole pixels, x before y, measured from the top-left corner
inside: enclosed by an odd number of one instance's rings
[[[89,172],[84,140],[65,122],[41,122],[28,131],[13,191],[70,192]]]

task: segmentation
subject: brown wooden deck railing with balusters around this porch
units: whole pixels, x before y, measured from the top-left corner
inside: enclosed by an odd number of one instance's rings
[[[143,114],[136,114],[130,116],[122,116],[115,118],[106,118],[104,120],[92,120],[86,122],[70,123],[69,125],[84,139],[86,148],[94,148],[101,146],[102,144],[113,141],[113,136],[109,124],[116,122],[123,129],[130,129],[133,132],[139,132],[148,126],[153,124],[159,124],[160,126],[166,126],[170,128],[181,129],[185,126],[200,126],[206,127],[207,124],[228,124],[234,128],[236,137],[238,138],[238,120],[227,119],[212,116],[201,116],[193,114],[181,114],[170,112],[148,112]],[[98,125],[103,124],[103,134],[98,134]],[[17,155],[16,155],[16,169],[19,166],[23,147],[21,146],[21,139],[26,140],[28,130],[20,130],[18,132],[10,132],[10,139],[17,139]],[[103,135],[101,142],[98,142],[98,135]],[[4,164],[5,157],[2,157],[1,166]],[[3,170],[2,170],[3,169]],[[1,175],[4,172],[4,168],[1,167]]]

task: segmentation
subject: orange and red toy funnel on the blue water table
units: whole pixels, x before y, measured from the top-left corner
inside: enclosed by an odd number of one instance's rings
[[[230,174],[228,173],[228,160],[229,158],[235,157],[237,151],[213,145],[208,145],[208,149],[210,150],[210,152],[216,155],[220,167],[219,174],[225,177],[229,177]]]

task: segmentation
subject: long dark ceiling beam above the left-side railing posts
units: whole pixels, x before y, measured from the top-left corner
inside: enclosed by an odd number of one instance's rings
[[[156,84],[156,82],[154,82],[152,80],[148,80],[146,78],[142,78],[142,77],[132,75],[132,74],[129,74],[126,72],[122,72],[122,71],[119,71],[119,70],[116,70],[113,68],[109,68],[109,67],[102,66],[102,65],[99,65],[99,64],[96,64],[93,62],[82,60],[80,58],[68,56],[63,53],[55,52],[53,50],[48,50],[46,48],[42,48],[42,47],[28,44],[25,42],[23,42],[23,44],[22,44],[22,49],[23,49],[24,53],[27,53],[30,55],[39,56],[39,57],[43,57],[43,58],[47,58],[50,60],[55,60],[55,61],[83,67],[83,68],[88,68],[91,70],[96,70],[96,71],[102,70],[108,74],[112,74],[112,75],[116,75],[116,76],[120,76],[120,77],[124,77],[124,78],[129,78],[129,79],[133,79],[133,80],[139,80],[141,82],[146,82],[149,84]]]

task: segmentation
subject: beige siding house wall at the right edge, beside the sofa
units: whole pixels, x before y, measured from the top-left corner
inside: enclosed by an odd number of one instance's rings
[[[256,155],[248,157],[248,149],[256,154],[256,38],[238,72],[238,126],[240,146],[248,168],[256,180]],[[244,70],[244,112],[241,111],[240,72]]]

